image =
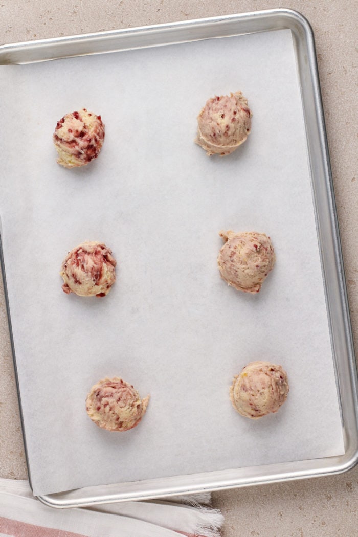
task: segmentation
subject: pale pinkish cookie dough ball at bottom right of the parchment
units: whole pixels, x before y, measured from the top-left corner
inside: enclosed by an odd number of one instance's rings
[[[233,379],[230,400],[246,418],[257,419],[277,412],[289,391],[287,374],[279,365],[251,362]]]

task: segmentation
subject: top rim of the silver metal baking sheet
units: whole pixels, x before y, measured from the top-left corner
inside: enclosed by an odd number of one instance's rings
[[[271,9],[249,13],[193,19],[122,30],[70,35],[10,43],[0,46],[0,65],[14,65],[54,60],[71,56],[105,54],[136,48],[172,45],[230,35],[291,28],[305,33],[308,21],[289,9]],[[219,27],[219,28],[218,28]]]

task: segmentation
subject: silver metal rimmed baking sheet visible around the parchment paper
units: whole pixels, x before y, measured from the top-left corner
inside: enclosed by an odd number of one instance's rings
[[[235,39],[235,36],[243,34],[253,35],[253,33],[255,33],[260,39],[260,34],[267,35],[269,31],[284,31],[285,29],[288,29],[292,33],[295,43],[296,59],[294,67],[296,69],[297,66],[297,77],[301,88],[306,144],[310,156],[309,172],[311,175],[311,187],[315,204],[315,206],[312,205],[311,207],[311,217],[316,217],[318,243],[320,245],[319,249],[317,246],[316,253],[317,256],[320,255],[322,260],[323,274],[326,284],[325,294],[327,312],[331,323],[330,332],[332,348],[334,351],[333,361],[335,362],[335,371],[337,373],[339,388],[339,404],[343,423],[342,434],[345,440],[345,453],[344,455],[337,455],[330,458],[320,457],[319,459],[304,461],[279,461],[267,465],[259,464],[257,466],[200,472],[198,475],[193,475],[191,472],[190,475],[176,477],[160,476],[160,480],[140,480],[136,483],[127,482],[119,485],[108,485],[108,487],[104,488],[80,489],[75,493],[64,492],[60,495],[42,495],[42,500],[51,505],[64,507],[103,502],[108,499],[142,499],[163,496],[165,494],[175,494],[180,491],[184,492],[204,488],[225,488],[253,484],[256,482],[322,475],[332,471],[342,471],[352,466],[355,462],[356,392],[354,387],[356,373],[354,354],[352,350],[352,338],[350,336],[344,279],[342,277],[337,219],[334,212],[333,190],[322,119],[322,106],[319,98],[315,51],[313,48],[311,30],[306,21],[299,16],[299,14],[288,10],[272,10],[268,12],[220,17],[202,21],[188,21],[187,23],[137,28],[129,31],[108,32],[77,38],[61,38],[58,40],[46,40],[38,43],[19,43],[14,46],[2,47],[0,50],[0,57],[2,63],[32,63],[52,59],[54,57],[97,54],[99,52],[105,53],[114,50],[144,49],[147,47],[151,48],[160,45],[168,45],[170,43],[182,43],[183,46],[187,46],[187,43],[203,39],[209,39],[209,41],[199,43],[199,48],[201,45],[205,46],[206,44],[208,44],[210,48],[213,46],[213,43],[215,45],[217,43],[217,40],[213,41],[211,38],[231,39],[232,37]],[[180,45],[177,44],[176,47],[178,46]],[[203,50],[205,49],[203,48]],[[165,54],[166,53],[164,53],[164,55]],[[101,56],[97,57],[99,59],[101,58]],[[72,65],[75,65],[75,63]],[[43,67],[44,69],[42,72],[45,73],[46,66]],[[71,70],[70,68],[70,72],[72,77],[75,77],[76,71],[74,69]],[[258,107],[256,110],[258,110]],[[257,120],[258,122],[259,119],[260,118]],[[157,124],[156,128],[158,128]],[[193,135],[194,134],[195,133],[193,132]],[[198,148],[195,149],[199,151]],[[201,158],[201,156],[199,158]],[[98,163],[99,162],[100,161],[98,161]],[[69,187],[67,183],[65,183],[65,186]],[[240,207],[240,209],[242,208]],[[249,215],[246,216],[247,220],[250,220]],[[7,222],[4,219],[5,233],[6,224]],[[6,265],[8,252],[6,251],[6,248],[4,248],[4,250]],[[7,270],[7,272],[9,271]],[[9,291],[10,313],[12,313],[13,306],[11,303],[11,293],[13,293],[13,291],[11,285],[9,286]],[[16,345],[17,335],[15,332],[15,350]],[[287,368],[289,369],[289,367]],[[21,372],[19,385],[21,396]],[[347,423],[349,423],[349,427],[346,426]],[[29,462],[31,475],[31,458]]]

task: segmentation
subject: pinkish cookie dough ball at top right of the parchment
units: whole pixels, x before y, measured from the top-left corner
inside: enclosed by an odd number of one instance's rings
[[[207,155],[229,155],[243,142],[251,130],[252,113],[241,91],[213,97],[198,115],[195,142]]]

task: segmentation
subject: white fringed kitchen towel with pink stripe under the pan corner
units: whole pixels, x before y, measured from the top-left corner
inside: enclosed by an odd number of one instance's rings
[[[210,494],[53,509],[27,481],[0,480],[0,537],[219,537]]]

